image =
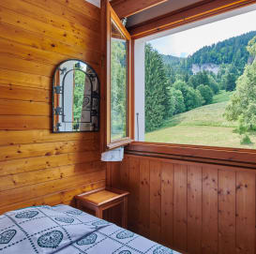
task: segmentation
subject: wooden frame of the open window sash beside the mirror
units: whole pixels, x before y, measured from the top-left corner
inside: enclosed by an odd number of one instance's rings
[[[107,21],[107,22],[106,22]],[[128,77],[127,77],[127,137],[116,141],[111,141],[111,25],[112,21],[118,26],[121,33],[126,37],[128,42]],[[108,0],[101,0],[101,116],[100,121],[104,123],[100,131],[101,152],[112,150],[114,148],[125,146],[133,142],[133,82],[131,76],[131,62],[132,62],[132,39],[128,30],[124,27],[122,22],[111,7]],[[107,42],[107,43],[106,43]],[[104,82],[105,81],[105,82]]]

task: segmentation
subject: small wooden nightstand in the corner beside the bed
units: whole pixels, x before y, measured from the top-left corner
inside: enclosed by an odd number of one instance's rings
[[[95,211],[96,217],[103,218],[103,211],[122,204],[122,227],[128,225],[128,191],[105,187],[75,196],[77,208]]]

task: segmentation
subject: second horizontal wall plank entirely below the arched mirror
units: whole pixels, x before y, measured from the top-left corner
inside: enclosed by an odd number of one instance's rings
[[[83,145],[80,141],[70,141],[0,146],[0,161],[23,157],[51,157],[74,152],[96,151],[96,145],[94,141],[87,142],[87,145]]]

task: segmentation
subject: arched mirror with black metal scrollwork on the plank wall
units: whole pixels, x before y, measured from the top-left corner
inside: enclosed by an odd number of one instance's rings
[[[68,60],[53,76],[53,132],[98,131],[99,81],[81,60]]]

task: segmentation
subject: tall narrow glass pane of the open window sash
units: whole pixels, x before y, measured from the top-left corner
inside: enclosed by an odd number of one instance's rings
[[[111,141],[127,137],[128,43],[112,21]]]

